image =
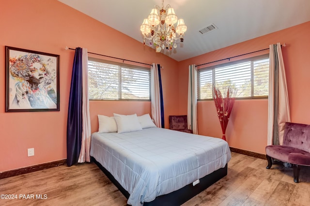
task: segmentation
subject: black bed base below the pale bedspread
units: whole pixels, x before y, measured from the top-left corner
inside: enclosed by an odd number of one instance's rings
[[[99,162],[97,162],[92,157],[93,162],[103,171],[103,173],[113,182],[113,184],[123,193],[123,195],[128,199],[129,193],[116,181],[116,179],[109,173],[106,168],[104,168]],[[193,184],[188,184],[185,187],[173,191],[169,194],[157,196],[152,202],[144,202],[143,206],[180,206],[186,201],[190,200],[200,192],[204,191],[214,183],[216,183],[221,178],[227,175],[227,164],[223,168],[219,168],[213,173],[200,178],[200,183],[193,186]]]

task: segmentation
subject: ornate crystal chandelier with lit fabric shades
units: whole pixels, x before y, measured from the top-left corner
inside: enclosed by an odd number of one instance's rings
[[[177,23],[176,27],[175,23]],[[186,29],[184,20],[178,19],[170,4],[164,7],[164,0],[162,0],[162,7],[155,6],[155,9],[152,9],[151,14],[143,20],[140,26],[143,44],[145,45],[145,40],[149,40],[149,44],[155,46],[156,52],[165,48],[169,51],[172,50],[172,47],[176,48],[177,40],[184,41],[183,36]]]

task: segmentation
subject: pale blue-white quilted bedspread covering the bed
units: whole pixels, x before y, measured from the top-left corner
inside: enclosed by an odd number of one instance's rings
[[[226,141],[162,128],[126,133],[93,133],[91,156],[130,194],[138,206],[176,191],[231,159]]]

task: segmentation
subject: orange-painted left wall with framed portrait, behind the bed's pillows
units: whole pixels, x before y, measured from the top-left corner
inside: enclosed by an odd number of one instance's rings
[[[165,100],[165,119],[178,113],[177,61],[157,54],[148,46],[109,28],[57,0],[10,0],[0,6],[0,172],[66,159],[66,123],[70,92],[73,50],[88,51],[148,64],[159,63]],[[141,37],[142,38],[142,37]],[[4,46],[60,55],[60,111],[4,112]],[[111,59],[108,59],[111,60]],[[127,62],[125,62],[127,63]],[[150,102],[91,101],[92,131],[98,128],[97,114],[142,115],[150,113]],[[27,157],[27,148],[34,156]]]

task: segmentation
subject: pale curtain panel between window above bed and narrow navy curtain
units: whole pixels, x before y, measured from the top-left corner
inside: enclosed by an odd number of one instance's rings
[[[161,127],[160,92],[157,64],[151,66],[151,112],[157,127]]]

